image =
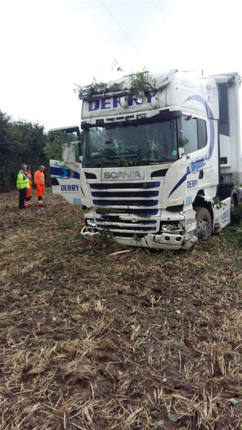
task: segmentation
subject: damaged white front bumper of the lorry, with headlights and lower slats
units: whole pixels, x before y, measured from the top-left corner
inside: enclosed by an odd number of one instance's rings
[[[108,218],[107,218],[108,217]],[[114,217],[114,218],[113,218]],[[82,234],[91,238],[100,231],[110,232],[113,240],[124,246],[153,249],[189,249],[197,241],[195,212],[192,206],[184,212],[161,210],[158,217],[134,216],[134,214],[104,213],[102,216],[89,209],[85,214],[86,226]],[[165,231],[163,225],[172,224],[174,229]]]

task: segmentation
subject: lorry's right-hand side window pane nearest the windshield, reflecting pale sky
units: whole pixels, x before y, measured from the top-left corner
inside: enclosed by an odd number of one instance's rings
[[[198,121],[197,118],[182,115],[182,145],[184,154],[198,150]]]

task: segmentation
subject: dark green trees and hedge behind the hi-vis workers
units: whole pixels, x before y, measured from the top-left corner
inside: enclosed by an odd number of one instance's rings
[[[13,121],[0,110],[0,192],[16,187],[16,177],[22,163],[34,173],[45,166],[46,185],[51,184],[49,160],[62,159],[62,147],[70,136],[62,131],[46,133],[44,126],[25,120]]]

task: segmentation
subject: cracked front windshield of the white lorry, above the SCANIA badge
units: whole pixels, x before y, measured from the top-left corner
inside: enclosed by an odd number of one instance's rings
[[[156,115],[158,116],[158,115]],[[153,117],[154,118],[154,117]],[[177,120],[102,124],[84,130],[83,165],[129,166],[177,160]]]

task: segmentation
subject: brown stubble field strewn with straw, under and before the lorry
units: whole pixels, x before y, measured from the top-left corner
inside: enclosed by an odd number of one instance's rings
[[[0,213],[0,428],[241,428],[241,225],[149,253],[51,190]]]

